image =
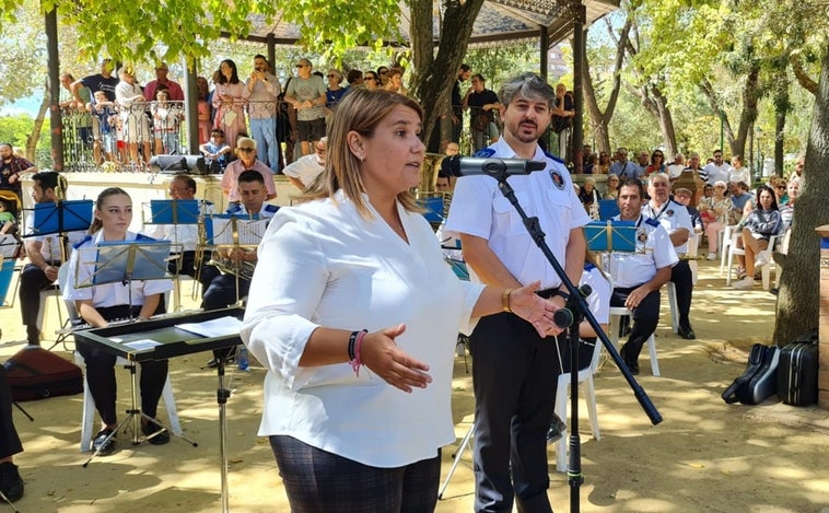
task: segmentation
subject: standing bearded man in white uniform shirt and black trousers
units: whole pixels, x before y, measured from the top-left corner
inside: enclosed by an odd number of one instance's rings
[[[544,161],[542,172],[511,176],[528,215],[537,217],[547,244],[574,283],[584,266],[584,226],[589,219],[563,163],[546,154],[538,138],[551,120],[556,94],[544,79],[524,73],[499,93],[504,133],[478,156]],[[446,222],[459,234],[477,281],[515,289],[541,281],[539,295],[564,305],[561,280],[536,247],[515,208],[488,176],[458,179]],[[471,335],[475,355],[475,511],[551,512],[546,433],[556,403],[557,341],[503,313],[480,319]]]

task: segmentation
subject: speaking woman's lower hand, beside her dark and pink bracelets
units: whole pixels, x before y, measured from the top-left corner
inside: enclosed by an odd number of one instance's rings
[[[432,376],[427,374],[429,365],[397,347],[395,338],[404,331],[406,325],[399,324],[366,334],[360,348],[360,360],[389,385],[411,393],[412,387],[425,388],[432,383]]]

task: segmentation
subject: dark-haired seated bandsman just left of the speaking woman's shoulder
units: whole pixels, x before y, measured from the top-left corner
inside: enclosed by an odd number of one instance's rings
[[[265,202],[267,198],[267,189],[265,187],[265,179],[257,171],[244,171],[238,175],[238,196],[242,203],[238,206],[231,206],[227,209],[227,213],[232,215],[259,215],[260,218],[272,218],[279,207],[268,205]],[[221,248],[217,249],[213,254],[213,258],[223,258],[233,263],[250,263],[256,265],[256,252],[245,250],[243,248]],[[206,283],[208,287],[205,289],[205,293],[201,296],[201,307],[205,310],[219,310],[226,308],[235,304],[238,299],[247,295],[247,291],[250,289],[250,280],[236,277],[231,273],[222,273],[213,271],[210,268],[213,266],[206,266],[202,272],[212,272],[212,280]],[[238,285],[238,289],[237,289]]]

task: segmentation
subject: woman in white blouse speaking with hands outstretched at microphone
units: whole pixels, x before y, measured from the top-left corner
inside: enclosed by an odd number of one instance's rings
[[[293,511],[432,511],[458,330],[512,310],[559,331],[538,283],[483,288],[444,263],[409,194],[421,121],[404,95],[352,91],[325,173],[258,248],[242,338],[268,369],[259,434]]]

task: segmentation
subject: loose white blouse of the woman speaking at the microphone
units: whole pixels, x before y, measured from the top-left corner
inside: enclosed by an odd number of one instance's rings
[[[259,435],[382,468],[434,457],[455,440],[453,352],[482,287],[452,273],[421,214],[398,205],[406,244],[371,203],[365,220],[341,193],[336,201],[283,207],[259,245],[242,329],[268,368]],[[430,366],[425,389],[406,394],[364,366],[358,377],[346,362],[299,366],[319,326],[372,333],[399,323],[397,345]]]

